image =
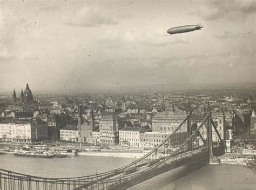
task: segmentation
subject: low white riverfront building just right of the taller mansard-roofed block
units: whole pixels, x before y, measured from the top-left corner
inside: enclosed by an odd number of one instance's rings
[[[119,130],[119,145],[139,146],[140,133],[151,131],[149,126],[125,127]]]

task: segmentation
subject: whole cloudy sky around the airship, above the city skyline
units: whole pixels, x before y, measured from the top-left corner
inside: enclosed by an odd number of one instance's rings
[[[256,1],[24,0],[0,11],[2,92],[255,82]]]

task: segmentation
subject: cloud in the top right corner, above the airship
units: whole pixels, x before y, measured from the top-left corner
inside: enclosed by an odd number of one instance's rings
[[[228,19],[234,19],[238,14],[248,16],[256,12],[256,1],[214,1],[208,5],[202,5],[197,11],[190,12],[191,15],[197,15],[206,21],[214,21],[226,16]]]

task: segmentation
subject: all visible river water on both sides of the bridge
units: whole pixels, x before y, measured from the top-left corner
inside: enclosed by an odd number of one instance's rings
[[[14,154],[0,155],[0,168],[14,172],[48,178],[80,177],[110,171],[132,162],[131,158],[99,157],[89,155],[71,158],[28,158]],[[193,166],[192,166],[193,167]],[[192,171],[191,166],[181,166],[163,173],[130,189],[159,190],[215,190],[256,189],[256,174],[240,165],[206,165]]]

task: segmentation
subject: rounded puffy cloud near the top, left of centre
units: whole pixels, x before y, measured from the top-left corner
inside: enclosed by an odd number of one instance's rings
[[[84,6],[72,15],[64,17],[64,23],[71,26],[95,27],[99,25],[112,25],[118,22],[111,12],[102,8]]]

